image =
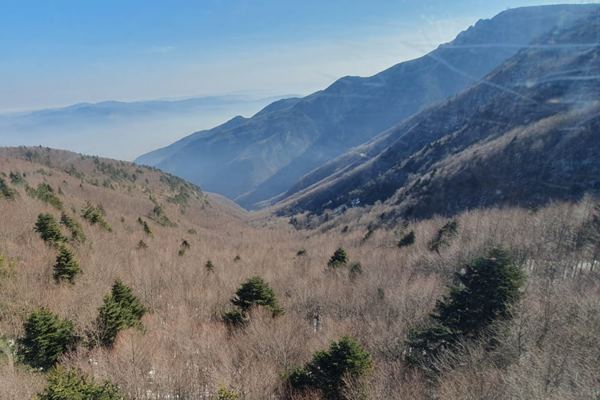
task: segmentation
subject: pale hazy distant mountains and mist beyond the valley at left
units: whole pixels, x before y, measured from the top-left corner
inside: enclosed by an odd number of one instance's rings
[[[140,148],[156,148],[181,132],[214,126],[236,114],[252,115],[279,98],[105,101],[4,113],[0,114],[0,146],[43,145],[131,160]]]

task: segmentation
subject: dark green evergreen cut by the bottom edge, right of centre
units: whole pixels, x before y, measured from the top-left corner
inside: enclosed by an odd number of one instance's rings
[[[373,368],[371,355],[354,339],[332,342],[328,351],[315,353],[302,368],[293,370],[288,383],[293,390],[317,390],[326,399],[346,399],[348,381],[358,381]]]

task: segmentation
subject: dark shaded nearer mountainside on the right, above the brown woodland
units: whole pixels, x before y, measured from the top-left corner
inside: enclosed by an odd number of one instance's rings
[[[600,189],[600,14],[314,171],[283,212],[388,201],[404,217],[540,205]],[[357,200],[358,199],[358,200]]]

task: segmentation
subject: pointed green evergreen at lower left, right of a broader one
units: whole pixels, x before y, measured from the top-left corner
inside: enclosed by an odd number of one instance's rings
[[[104,297],[104,304],[98,309],[96,329],[101,345],[114,344],[119,331],[127,328],[141,329],[141,319],[146,308],[135,297],[133,291],[120,280],[116,280],[111,293]]]

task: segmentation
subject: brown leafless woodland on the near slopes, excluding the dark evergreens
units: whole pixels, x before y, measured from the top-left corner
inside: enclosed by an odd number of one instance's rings
[[[0,200],[0,330],[11,360],[0,363],[1,398],[30,398],[45,385],[43,374],[17,366],[8,344],[22,335],[29,313],[46,307],[85,338],[120,279],[147,308],[143,329],[123,330],[109,348],[84,340],[61,364],[108,379],[127,398],[216,398],[222,387],[248,399],[282,396],[282,376],[330,341],[351,336],[373,358],[370,396],[425,399],[429,384],[404,363],[404,338],[426,319],[452,273],[492,244],[530,260],[518,316],[503,328],[494,356],[470,346],[460,355],[462,366],[436,383],[436,393],[575,399],[595,385],[598,242],[582,238],[600,234],[597,199],[465,212],[434,251],[448,219],[394,222],[382,219],[384,205],[297,230],[287,218],[247,214],[184,181],[124,162],[18,148],[2,150],[0,171],[14,193]],[[10,176],[23,181],[11,183]],[[39,184],[52,188],[60,210],[27,194],[26,187]],[[110,231],[81,216],[88,202],[106,210]],[[155,218],[157,206],[162,219]],[[82,226],[85,242],[68,244],[82,271],[73,284],[52,279],[56,250],[34,231],[40,213],[57,219],[65,213]],[[414,243],[400,247],[409,232]],[[328,267],[340,247],[348,267]],[[350,263],[360,263],[360,272],[351,273]],[[256,310],[232,331],[222,315],[252,276],[268,282],[284,313]],[[509,368],[498,369],[500,355],[510,358]],[[548,376],[554,378],[544,389]]]

